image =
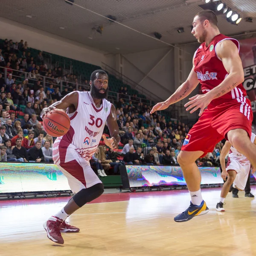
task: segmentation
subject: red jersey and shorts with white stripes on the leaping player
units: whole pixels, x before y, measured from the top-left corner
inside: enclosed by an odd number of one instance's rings
[[[206,47],[205,43],[196,50],[194,55],[194,71],[202,85],[202,92],[207,93],[221,82],[228,75],[227,70],[216,53],[217,45],[224,40],[233,41],[239,49],[239,42],[219,34],[212,38],[211,43]],[[215,145],[227,140],[227,132],[241,128],[251,134],[253,113],[250,101],[245,98],[246,90],[242,84],[233,87],[227,84],[229,92],[212,100],[207,109],[204,110],[198,122],[189,131],[181,150],[203,151],[201,157],[207,152],[212,152]]]

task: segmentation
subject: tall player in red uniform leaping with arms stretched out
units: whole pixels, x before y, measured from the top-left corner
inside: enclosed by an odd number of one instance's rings
[[[212,152],[223,138],[256,166],[256,145],[250,141],[253,114],[241,84],[244,70],[239,42],[222,35],[217,23],[215,13],[210,10],[195,15],[192,34],[201,46],[194,54],[189,77],[169,99],[157,103],[151,111],[166,109],[186,98],[200,81],[204,94],[189,98],[190,102],[185,104],[190,113],[200,108],[200,118],[177,157],[191,196],[189,208],[174,218],[177,222],[189,221],[209,211],[201,195],[201,175],[195,160]]]

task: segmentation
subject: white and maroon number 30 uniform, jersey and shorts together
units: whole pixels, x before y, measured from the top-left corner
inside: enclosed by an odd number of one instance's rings
[[[111,102],[106,99],[102,99],[102,105],[96,108],[90,92],[78,93],[76,112],[68,114],[70,129],[55,140],[52,151],[54,163],[67,177],[75,193],[101,183],[90,167],[90,158],[99,145],[111,111]]]

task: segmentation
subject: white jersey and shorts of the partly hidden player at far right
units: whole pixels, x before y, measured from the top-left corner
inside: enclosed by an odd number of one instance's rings
[[[256,135],[251,133],[251,142],[254,143]],[[236,178],[233,182],[233,187],[244,190],[248,175],[250,172],[250,161],[233,146],[230,148],[230,153],[228,155],[227,171],[236,171]]]

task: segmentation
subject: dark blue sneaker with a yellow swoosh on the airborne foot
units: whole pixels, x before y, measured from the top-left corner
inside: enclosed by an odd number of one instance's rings
[[[204,200],[202,201],[202,203],[199,206],[192,204],[192,202],[190,202],[189,208],[186,209],[185,212],[182,212],[179,215],[177,215],[174,218],[174,221],[176,221],[176,222],[189,221],[193,217],[198,216],[198,215],[204,215],[207,212],[209,212],[209,208],[207,207]]]

